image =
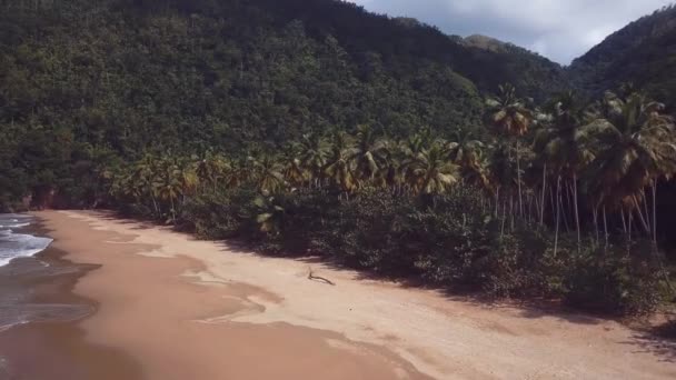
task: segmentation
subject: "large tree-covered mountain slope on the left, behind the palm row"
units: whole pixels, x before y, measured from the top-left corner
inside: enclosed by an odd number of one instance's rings
[[[480,91],[560,87],[557,64],[335,0],[6,0],[0,191],[70,188],[146,150],[232,153],[368,123],[481,124]],[[59,141],[58,144],[51,141]]]

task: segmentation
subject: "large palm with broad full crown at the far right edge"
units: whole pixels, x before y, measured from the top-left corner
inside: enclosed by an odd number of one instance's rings
[[[607,92],[597,106],[596,119],[586,130],[595,136],[596,154],[589,167],[590,192],[599,203],[636,211],[649,232],[639,200],[656,181],[676,172],[674,119],[660,112],[664,104],[639,93],[622,99]],[[645,199],[644,199],[645,200]],[[656,243],[656,206],[653,198],[653,239]]]

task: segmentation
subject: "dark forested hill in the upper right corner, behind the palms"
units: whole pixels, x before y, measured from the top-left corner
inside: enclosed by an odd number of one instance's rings
[[[632,82],[676,106],[676,8],[665,7],[629,23],[568,68],[576,86],[599,93]]]

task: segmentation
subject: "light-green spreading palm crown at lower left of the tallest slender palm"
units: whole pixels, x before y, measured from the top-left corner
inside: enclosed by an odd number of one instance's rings
[[[418,154],[408,168],[408,182],[421,194],[439,194],[457,182],[458,167],[448,160],[443,141],[436,141]]]

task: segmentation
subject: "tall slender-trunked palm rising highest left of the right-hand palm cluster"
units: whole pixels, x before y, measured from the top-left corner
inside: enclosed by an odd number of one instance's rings
[[[517,162],[517,187],[519,197],[519,212],[524,213],[524,201],[521,196],[521,169],[519,162],[519,137],[528,132],[533,122],[533,112],[526,107],[526,102],[516,94],[511,84],[499,86],[498,96],[489,98],[486,104],[491,109],[491,122],[507,136],[516,140]]]

